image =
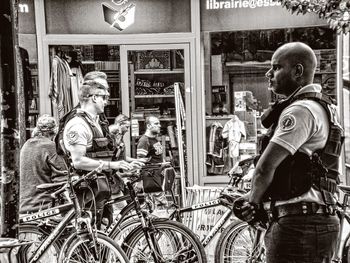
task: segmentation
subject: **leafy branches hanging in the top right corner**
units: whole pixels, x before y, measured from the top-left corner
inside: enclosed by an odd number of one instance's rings
[[[350,1],[349,0],[275,0],[283,7],[296,14],[316,13],[320,18],[327,19],[330,28],[343,32],[350,31]]]

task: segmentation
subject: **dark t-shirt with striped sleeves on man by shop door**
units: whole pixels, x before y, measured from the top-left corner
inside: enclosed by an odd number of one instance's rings
[[[154,137],[143,135],[137,144],[137,158],[150,158],[151,163],[163,162],[163,146]]]

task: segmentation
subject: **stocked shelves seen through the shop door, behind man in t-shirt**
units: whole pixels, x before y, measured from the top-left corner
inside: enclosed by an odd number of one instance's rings
[[[165,54],[168,51],[164,50],[164,52],[159,52],[159,54]],[[139,54],[139,52],[143,54],[143,51],[132,52],[134,57],[138,59],[143,58]],[[174,52],[174,50],[171,52]],[[176,149],[171,147],[168,134],[169,130],[171,132],[173,129],[173,133],[176,130],[176,127],[174,127],[176,126],[175,95],[172,94],[174,92],[171,92],[171,89],[174,89],[173,85],[175,82],[184,82],[186,73],[184,68],[181,67],[175,68],[170,66],[168,68],[170,62],[164,58],[155,56],[154,59],[159,61],[164,68],[140,69],[140,65],[146,67],[149,64],[147,61],[142,63],[135,61],[135,64],[130,65],[130,110],[132,113],[138,113],[138,116],[131,117],[138,122],[138,133],[134,134],[137,136],[131,137],[131,155],[136,155],[138,139],[146,130],[146,117],[154,115],[159,118],[161,123],[159,138],[164,147],[163,158],[171,159],[173,163],[178,163],[178,155],[173,152]],[[172,128],[169,128],[169,126],[172,126]],[[176,136],[176,134],[172,136]]]

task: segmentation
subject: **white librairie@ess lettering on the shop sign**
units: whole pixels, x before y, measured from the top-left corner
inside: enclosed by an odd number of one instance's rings
[[[208,10],[237,9],[237,8],[257,8],[280,6],[281,3],[274,0],[207,0]]]

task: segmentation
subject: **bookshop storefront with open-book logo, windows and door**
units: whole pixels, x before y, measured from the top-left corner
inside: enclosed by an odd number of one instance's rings
[[[257,153],[264,132],[259,118],[276,99],[265,73],[282,43],[308,42],[319,61],[315,81],[341,109],[348,105],[341,92],[342,79],[347,87],[349,82],[348,69],[342,70],[342,38],[316,15],[291,15],[270,0],[22,0],[21,5],[28,12],[20,13],[20,45],[34,69],[28,126],[37,114],[60,116],[74,106],[79,75],[105,71],[111,88],[107,117],[113,122],[123,112],[132,119],[129,153],[135,154],[145,118],[157,115],[164,157],[179,166],[182,184],[223,185],[235,162]],[[57,63],[70,64],[65,99],[71,104],[63,111],[50,93]],[[211,142],[219,131],[228,132],[215,152]]]

